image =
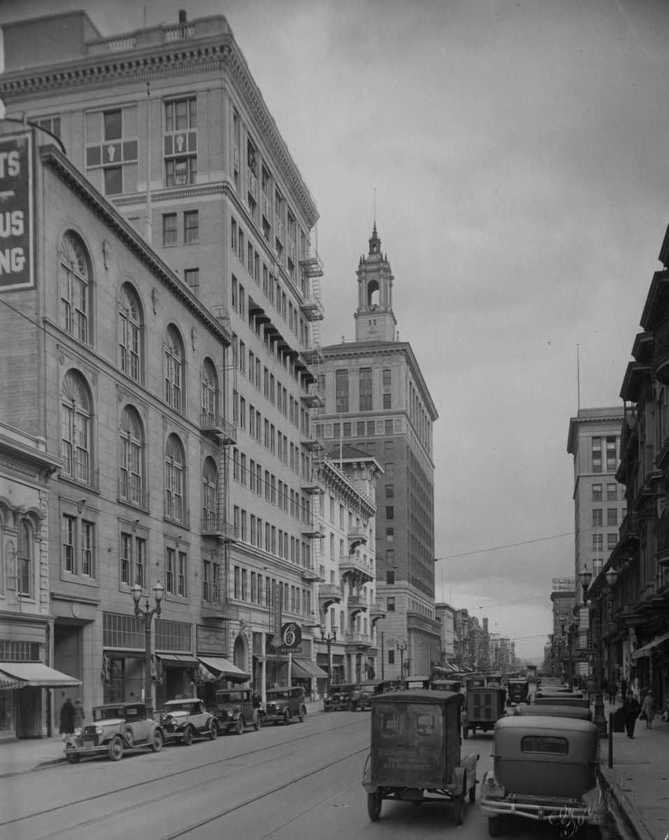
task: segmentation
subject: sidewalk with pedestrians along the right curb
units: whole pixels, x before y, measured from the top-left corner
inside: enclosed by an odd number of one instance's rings
[[[609,711],[619,704],[604,704]],[[656,715],[651,729],[637,721],[634,740],[614,732],[613,764],[609,768],[609,741],[601,742],[599,774],[609,795],[610,810],[622,837],[667,840],[669,837],[669,723]]]

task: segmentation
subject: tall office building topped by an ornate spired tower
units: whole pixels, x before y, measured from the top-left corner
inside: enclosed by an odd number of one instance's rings
[[[316,437],[340,439],[384,470],[376,514],[379,601],[386,617],[384,674],[429,673],[439,663],[435,617],[434,463],[436,408],[393,312],[393,275],[376,225],[358,265],[355,340],[323,347],[318,387],[325,407]],[[404,647],[402,647],[404,645]]]

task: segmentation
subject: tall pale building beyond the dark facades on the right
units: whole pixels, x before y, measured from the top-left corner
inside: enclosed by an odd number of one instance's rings
[[[569,421],[567,452],[574,465],[574,623],[578,630],[572,654],[576,675],[593,669],[589,610],[579,575],[587,571],[597,577],[601,572],[618,542],[625,516],[625,496],[615,478],[622,420],[622,407],[606,407],[580,408]]]

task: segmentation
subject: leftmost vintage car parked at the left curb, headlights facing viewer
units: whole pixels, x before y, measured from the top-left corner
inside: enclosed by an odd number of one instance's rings
[[[107,703],[93,708],[92,723],[68,735],[65,757],[71,764],[97,755],[119,761],[126,752],[151,749],[159,753],[164,741],[163,727],[148,717],[144,703]]]

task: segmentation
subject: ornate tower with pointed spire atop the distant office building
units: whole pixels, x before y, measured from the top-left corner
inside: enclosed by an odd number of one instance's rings
[[[376,223],[369,239],[369,254],[358,265],[358,309],[355,312],[356,341],[395,341],[393,275],[388,258],[381,255]]]

